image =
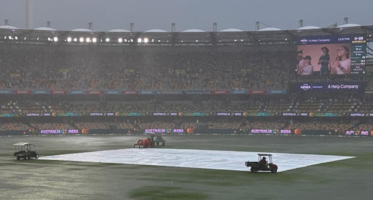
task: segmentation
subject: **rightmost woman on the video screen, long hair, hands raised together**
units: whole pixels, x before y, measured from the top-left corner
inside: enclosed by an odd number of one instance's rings
[[[331,63],[331,74],[349,74],[351,72],[350,49],[341,46],[337,49],[337,58]]]

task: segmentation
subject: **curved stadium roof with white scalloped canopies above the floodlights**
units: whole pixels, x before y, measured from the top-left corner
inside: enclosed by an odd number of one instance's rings
[[[45,29],[24,30],[10,26],[0,27],[0,41],[7,41],[8,36],[17,36],[18,40],[25,39],[30,42],[47,40],[48,37],[58,37],[58,42],[66,42],[68,37],[95,37],[98,43],[105,43],[105,38],[109,37],[109,43],[118,43],[119,38],[124,42],[144,41],[147,38],[148,43],[160,44],[225,44],[240,43],[245,44],[274,44],[274,43],[292,43],[298,37],[310,35],[351,35],[351,34],[373,34],[373,26],[344,25],[338,28],[318,28],[303,27],[297,30],[279,30],[276,28],[265,28],[260,31],[242,31],[238,29],[225,29],[220,32],[205,32],[199,29],[189,29],[183,32],[165,32],[164,30],[153,29],[146,32],[129,32],[124,29],[113,29],[108,32],[94,32],[88,29],[75,29],[73,31],[51,31]],[[5,37],[6,36],[6,37]],[[368,38],[372,41],[373,38]],[[14,41],[14,40],[13,40]],[[85,40],[84,40],[85,41]],[[93,41],[93,40],[92,40]],[[127,44],[124,43],[123,44]],[[85,42],[83,42],[85,43]]]

